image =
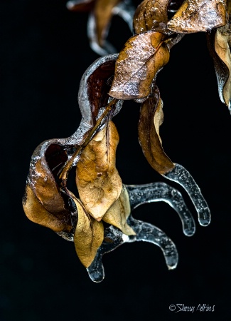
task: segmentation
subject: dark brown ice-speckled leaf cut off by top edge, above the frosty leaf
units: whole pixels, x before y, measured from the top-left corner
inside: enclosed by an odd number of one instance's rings
[[[168,0],[144,0],[137,7],[133,27],[135,34],[149,31],[161,22],[168,22]]]

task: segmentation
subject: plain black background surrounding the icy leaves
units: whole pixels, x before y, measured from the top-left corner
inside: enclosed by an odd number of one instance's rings
[[[161,250],[148,243],[122,245],[104,256],[105,279],[93,283],[75,247],[32,223],[21,198],[33,150],[64,138],[80,123],[77,91],[85,69],[98,58],[88,45],[87,13],[65,0],[0,1],[1,91],[1,321],[229,320],[231,119],[217,93],[205,34],[190,34],[171,50],[159,73],[165,120],[163,147],[193,175],[210,206],[212,222],[198,222],[193,237],[165,203],[143,205],[134,217],[161,228],[178,248],[168,271]],[[136,5],[139,1],[136,1]],[[114,18],[118,51],[129,38]],[[139,104],[124,103],[114,118],[120,143],[117,168],[124,183],[166,181],[155,173],[137,140]],[[169,311],[169,305],[215,305],[215,312]]]

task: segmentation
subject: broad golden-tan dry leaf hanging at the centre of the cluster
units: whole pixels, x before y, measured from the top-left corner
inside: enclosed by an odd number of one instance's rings
[[[122,190],[122,180],[115,167],[118,143],[117,128],[109,121],[82,151],[76,166],[80,200],[93,218],[99,221]]]

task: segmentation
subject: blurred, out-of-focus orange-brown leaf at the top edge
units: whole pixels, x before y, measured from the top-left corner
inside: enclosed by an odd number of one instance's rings
[[[97,0],[95,2],[94,15],[97,30],[97,40],[100,46],[104,45],[107,36],[109,22],[112,19],[112,9],[121,0]]]

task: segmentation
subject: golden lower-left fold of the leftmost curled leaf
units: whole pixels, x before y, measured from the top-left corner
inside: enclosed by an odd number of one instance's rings
[[[63,220],[57,218],[52,213],[45,210],[44,206],[40,203],[30,185],[26,185],[26,191],[23,198],[23,210],[28,217],[34,223],[43,225],[46,228],[51,228],[55,232],[61,232],[63,230],[70,231],[71,226],[66,222],[65,217]]]

